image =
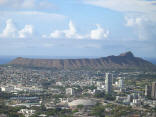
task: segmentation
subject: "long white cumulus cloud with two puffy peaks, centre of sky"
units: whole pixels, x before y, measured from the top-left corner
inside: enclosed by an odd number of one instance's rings
[[[97,24],[97,28],[90,31],[90,34],[81,35],[77,32],[76,27],[69,21],[68,29],[65,30],[55,30],[49,36],[42,35],[43,38],[67,38],[67,39],[93,39],[100,40],[104,38],[108,38],[109,31],[104,30],[99,24]]]

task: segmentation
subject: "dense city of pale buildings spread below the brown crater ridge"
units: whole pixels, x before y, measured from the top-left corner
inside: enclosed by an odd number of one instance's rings
[[[141,72],[118,73],[112,71],[106,73],[102,70],[53,71],[2,67],[0,69],[0,89],[2,92],[17,95],[10,98],[11,103],[9,105],[11,106],[23,105],[31,108],[32,106],[45,105],[47,109],[74,109],[82,105],[85,107],[84,113],[81,113],[82,116],[85,116],[86,111],[89,111],[90,107],[96,105],[97,101],[103,101],[102,98],[98,99],[95,97],[99,93],[116,97],[114,101],[109,103],[138,108],[148,105],[155,108],[156,82],[146,85],[145,91],[136,91],[135,88],[137,87],[125,85],[126,78],[135,77],[135,75],[137,76],[139,74]],[[18,94],[22,96],[18,96]],[[38,94],[39,96],[31,97],[28,94]],[[44,95],[51,97],[46,99]],[[56,95],[63,97],[57,98]],[[35,111],[23,109],[19,113],[23,113],[25,116],[31,116]]]

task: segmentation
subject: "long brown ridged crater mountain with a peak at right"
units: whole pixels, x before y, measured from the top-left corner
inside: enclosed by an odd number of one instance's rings
[[[143,60],[142,58],[135,57],[132,52],[122,53],[119,56],[108,56],[96,59],[30,59],[18,57],[11,61],[9,64],[27,67],[58,69],[156,69],[155,65],[146,60]]]

